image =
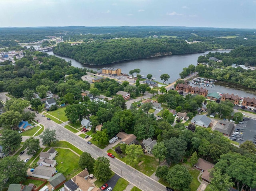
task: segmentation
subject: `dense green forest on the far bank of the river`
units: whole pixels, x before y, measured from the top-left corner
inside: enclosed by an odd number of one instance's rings
[[[148,58],[162,55],[203,52],[209,47],[202,43],[188,44],[178,39],[109,39],[71,46],[60,43],[54,53],[71,57],[90,65],[102,65],[117,61]]]

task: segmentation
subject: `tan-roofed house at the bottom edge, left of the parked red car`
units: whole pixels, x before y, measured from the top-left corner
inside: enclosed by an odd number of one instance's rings
[[[89,177],[88,171],[85,169],[72,178],[72,181],[78,185],[79,189],[82,191],[100,191],[95,185],[92,185],[89,181],[87,181]]]

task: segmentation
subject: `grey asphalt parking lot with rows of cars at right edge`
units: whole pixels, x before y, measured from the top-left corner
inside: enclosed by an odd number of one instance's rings
[[[244,117],[243,124],[236,124],[235,128],[240,128],[240,129],[244,128],[244,131],[242,130],[239,131],[243,133],[242,138],[244,138],[244,140],[238,140],[237,138],[236,142],[241,144],[246,140],[253,141],[254,139],[253,137],[256,134],[256,120]]]

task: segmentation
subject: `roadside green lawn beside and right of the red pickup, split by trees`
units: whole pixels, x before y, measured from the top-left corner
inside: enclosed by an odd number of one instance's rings
[[[114,154],[114,156],[118,159],[120,159],[121,161],[124,161],[124,156],[122,155],[118,155],[116,154],[116,152],[112,149],[109,149],[107,151],[108,153],[112,153]],[[122,156],[122,158],[121,158]],[[143,161],[143,163],[141,163],[140,165],[132,165],[132,167],[134,167],[135,169],[137,169],[138,171],[151,176],[155,171],[157,166],[159,165],[158,161],[156,161],[156,159],[154,157],[148,156],[148,155],[143,155],[141,158],[138,158],[139,163],[141,161]]]

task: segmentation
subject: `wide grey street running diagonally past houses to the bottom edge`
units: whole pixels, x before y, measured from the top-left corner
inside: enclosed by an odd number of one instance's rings
[[[36,119],[39,119],[40,123],[44,125],[45,128],[56,130],[56,137],[58,140],[67,141],[73,144],[80,150],[90,153],[95,159],[102,156],[107,157],[106,152],[102,151],[100,148],[94,146],[93,144],[87,144],[87,142],[80,136],[75,135],[66,128],[60,126],[59,124],[56,124],[52,120],[49,121],[45,117],[41,117],[40,114],[36,114],[36,116]],[[165,189],[163,185],[161,185],[154,179],[144,175],[143,173],[137,171],[129,165],[126,165],[119,159],[110,158],[110,168],[112,171],[114,171],[114,173],[118,174],[119,176],[121,176],[122,171],[122,177],[124,179],[134,184],[143,191],[162,191]]]

